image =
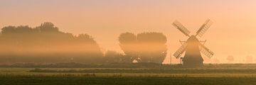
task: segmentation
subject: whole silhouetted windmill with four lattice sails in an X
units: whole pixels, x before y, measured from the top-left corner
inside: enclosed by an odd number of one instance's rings
[[[210,28],[210,25],[213,22],[208,19],[206,23],[203,23],[203,26],[199,28],[196,32],[196,35],[189,35],[191,32],[181,25],[178,21],[174,21],[172,24],[178,30],[181,31],[184,35],[188,36],[188,40],[181,41],[181,47],[174,53],[174,57],[181,58],[183,60],[183,65],[186,67],[198,67],[203,65],[203,57],[201,56],[201,52],[206,55],[206,57],[213,57],[214,53],[211,52],[206,46],[204,46],[205,41],[198,40],[197,37],[202,37],[206,30]],[[186,52],[184,57],[181,57],[183,52]]]

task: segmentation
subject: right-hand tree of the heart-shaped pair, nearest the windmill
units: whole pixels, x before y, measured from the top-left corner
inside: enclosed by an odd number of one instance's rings
[[[165,35],[162,33],[139,33],[137,41],[142,62],[164,62],[167,53]]]

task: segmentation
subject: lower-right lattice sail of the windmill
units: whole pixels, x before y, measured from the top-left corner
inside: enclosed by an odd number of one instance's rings
[[[199,44],[199,50],[209,58],[213,57],[214,55],[213,52],[211,52],[206,46],[202,45],[201,43]]]

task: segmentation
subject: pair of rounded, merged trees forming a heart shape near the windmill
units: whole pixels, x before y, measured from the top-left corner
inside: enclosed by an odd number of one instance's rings
[[[122,33],[119,43],[131,61],[161,63],[166,57],[166,36],[162,33]]]

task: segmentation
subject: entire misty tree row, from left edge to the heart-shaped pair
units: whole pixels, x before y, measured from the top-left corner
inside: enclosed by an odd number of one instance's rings
[[[7,26],[0,34],[0,62],[154,62],[166,57],[166,36],[162,33],[122,33],[123,53],[107,51],[87,34],[73,35],[58,30],[53,23],[41,26]]]

